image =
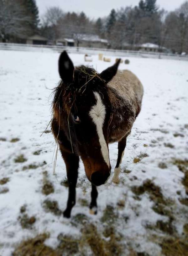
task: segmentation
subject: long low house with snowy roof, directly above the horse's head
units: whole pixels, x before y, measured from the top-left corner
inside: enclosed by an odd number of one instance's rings
[[[73,38],[78,47],[107,48],[108,41],[98,35],[74,33]]]

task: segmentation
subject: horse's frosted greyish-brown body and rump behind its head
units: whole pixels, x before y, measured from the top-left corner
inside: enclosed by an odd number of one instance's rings
[[[108,83],[108,94],[112,104],[109,141],[119,141],[130,133],[141,110],[143,93],[142,83],[129,70],[118,70]]]

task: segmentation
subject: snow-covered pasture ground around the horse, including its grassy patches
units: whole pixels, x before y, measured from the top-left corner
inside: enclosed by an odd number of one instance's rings
[[[0,51],[0,255],[11,255],[21,241],[42,233],[50,235],[45,245],[55,250],[66,240],[60,233],[81,241],[83,230],[91,225],[104,242],[100,250],[109,250],[108,255],[170,255],[165,254],[167,241],[176,240],[183,250],[188,236],[188,62],[129,58],[129,65],[120,64],[144,86],[142,110],[121,164],[121,181],[116,185],[109,179],[98,187],[98,214],[91,215],[91,185],[80,164],[77,202],[71,218],[64,219],[65,164],[58,152],[53,175],[55,140],[50,126],[40,136],[50,121],[49,96],[59,81],[58,57]],[[88,64],[82,54],[70,57],[75,65]],[[115,57],[107,57],[115,62]],[[89,64],[99,72],[109,66],[96,55],[92,58]],[[117,143],[109,151],[113,172]],[[90,242],[84,247],[76,243],[71,255],[107,255],[95,252]],[[114,251],[105,247],[107,243]],[[62,250],[62,255],[70,255],[67,247]]]

